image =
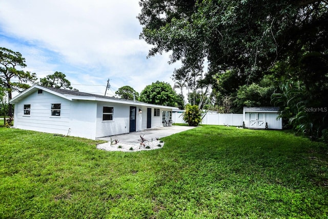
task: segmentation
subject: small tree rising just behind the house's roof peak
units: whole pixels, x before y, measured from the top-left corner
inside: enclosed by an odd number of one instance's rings
[[[40,85],[54,88],[68,88],[70,90],[73,89],[71,87],[71,82],[68,81],[66,75],[59,71],[49,74],[44,78],[40,78]]]

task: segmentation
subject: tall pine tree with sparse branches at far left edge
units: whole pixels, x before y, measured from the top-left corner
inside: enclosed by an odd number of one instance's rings
[[[36,81],[35,73],[19,70],[26,67],[25,58],[19,52],[0,47],[0,85],[8,93],[8,100],[12,98],[12,91],[22,91],[30,86],[26,83]],[[12,105],[8,106],[8,115],[12,116]]]

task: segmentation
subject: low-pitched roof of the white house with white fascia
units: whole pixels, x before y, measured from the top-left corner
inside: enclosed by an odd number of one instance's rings
[[[120,104],[129,104],[129,105],[138,105],[138,106],[148,106],[148,107],[158,107],[158,108],[167,108],[167,109],[178,109],[176,107],[170,107],[170,106],[162,106],[162,105],[155,105],[155,104],[147,104],[144,102],[139,101],[130,101],[128,99],[121,99],[117,97],[111,97],[111,96],[102,96],[92,93],[85,93],[85,92],[79,92],[74,90],[66,90],[66,89],[59,89],[59,88],[53,88],[53,87],[45,87],[40,85],[33,85],[29,89],[23,91],[22,93],[18,94],[14,98],[10,100],[10,103],[17,103],[24,99],[26,96],[30,95],[31,93],[35,92],[36,90],[45,90],[49,93],[52,93],[54,95],[63,97],[65,99],[68,99],[69,101],[72,101],[74,99],[78,100],[85,100],[85,101],[99,101],[99,102],[111,102],[111,103],[120,103]]]

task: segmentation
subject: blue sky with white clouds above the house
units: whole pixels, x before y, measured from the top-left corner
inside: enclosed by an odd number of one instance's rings
[[[38,78],[60,71],[73,88],[109,95],[125,85],[173,85],[169,54],[147,59],[138,0],[0,0],[0,47],[22,53]]]

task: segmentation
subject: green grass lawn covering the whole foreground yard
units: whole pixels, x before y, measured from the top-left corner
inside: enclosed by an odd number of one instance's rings
[[[147,137],[147,136],[145,136]],[[0,128],[0,218],[327,218],[327,146],[203,126],[158,150]]]

